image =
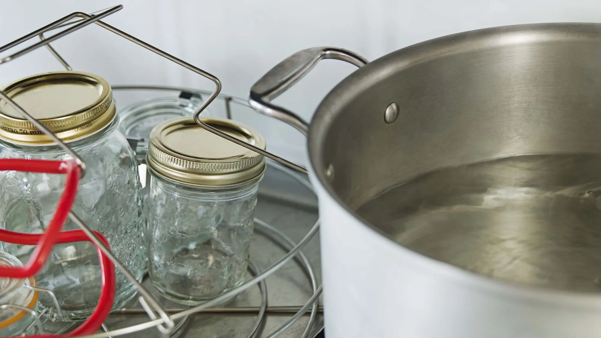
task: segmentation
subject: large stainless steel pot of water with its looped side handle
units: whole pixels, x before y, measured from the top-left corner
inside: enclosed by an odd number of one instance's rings
[[[323,58],[281,62],[255,109],[308,134],[328,337],[597,337],[601,24],[449,35],[361,67],[311,127],[269,101]]]

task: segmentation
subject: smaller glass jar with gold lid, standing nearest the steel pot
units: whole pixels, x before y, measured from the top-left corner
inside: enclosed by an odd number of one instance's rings
[[[246,125],[203,121],[265,148],[263,137]],[[194,305],[242,284],[263,156],[186,117],[154,127],[146,161],[154,286],[172,301]]]

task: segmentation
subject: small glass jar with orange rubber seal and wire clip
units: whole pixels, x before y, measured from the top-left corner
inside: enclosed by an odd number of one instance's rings
[[[22,267],[16,257],[0,251],[1,267]],[[0,337],[34,333],[34,317],[13,306],[37,310],[38,292],[28,288],[35,286],[33,277],[14,279],[0,277]],[[9,305],[10,304],[10,305]]]

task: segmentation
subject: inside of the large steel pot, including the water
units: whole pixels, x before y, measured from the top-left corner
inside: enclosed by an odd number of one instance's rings
[[[600,94],[600,25],[451,35],[341,82],[316,112],[311,161],[341,204],[415,252],[600,292]]]

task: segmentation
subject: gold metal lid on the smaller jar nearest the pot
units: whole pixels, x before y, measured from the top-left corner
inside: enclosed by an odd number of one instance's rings
[[[231,119],[202,118],[210,126],[265,149],[256,130]],[[204,130],[191,116],[170,119],[150,133],[148,168],[155,175],[194,186],[230,186],[263,174],[263,155]]]

